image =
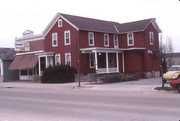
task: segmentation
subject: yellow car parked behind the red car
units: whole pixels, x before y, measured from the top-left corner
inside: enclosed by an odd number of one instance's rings
[[[180,78],[180,65],[173,65],[168,69],[168,72],[163,74],[162,80],[166,83],[170,80]]]

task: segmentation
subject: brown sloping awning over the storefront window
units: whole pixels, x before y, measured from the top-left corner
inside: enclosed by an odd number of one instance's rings
[[[15,57],[15,59],[9,66],[9,70],[32,69],[36,66],[37,61],[38,61],[38,56],[34,54],[18,55]]]

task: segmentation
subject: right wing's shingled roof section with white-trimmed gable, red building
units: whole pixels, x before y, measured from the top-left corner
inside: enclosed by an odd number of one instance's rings
[[[155,18],[119,24],[118,30],[120,33],[144,31],[150,23],[153,24],[158,32],[161,32],[160,28],[155,22]]]

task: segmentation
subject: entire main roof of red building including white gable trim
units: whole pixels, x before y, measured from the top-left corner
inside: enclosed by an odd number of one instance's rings
[[[152,23],[153,26],[156,28],[156,30],[158,32],[161,32],[154,18],[120,24],[118,22],[113,22],[113,21],[104,21],[104,20],[92,19],[87,17],[57,13],[43,31],[44,36],[46,36],[46,34],[50,31],[50,29],[54,26],[54,24],[58,21],[59,18],[65,20],[67,23],[72,25],[76,30],[118,34],[118,33],[144,31],[146,27],[150,23]]]

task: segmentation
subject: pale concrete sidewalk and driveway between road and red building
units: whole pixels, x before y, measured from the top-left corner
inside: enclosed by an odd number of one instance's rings
[[[104,90],[104,91],[152,91],[155,87],[161,86],[160,78],[141,79],[138,81],[128,81],[111,84],[95,84],[92,82],[78,82],[64,84],[43,84],[30,82],[1,82],[0,88],[29,88],[29,89],[88,89],[88,90]]]

